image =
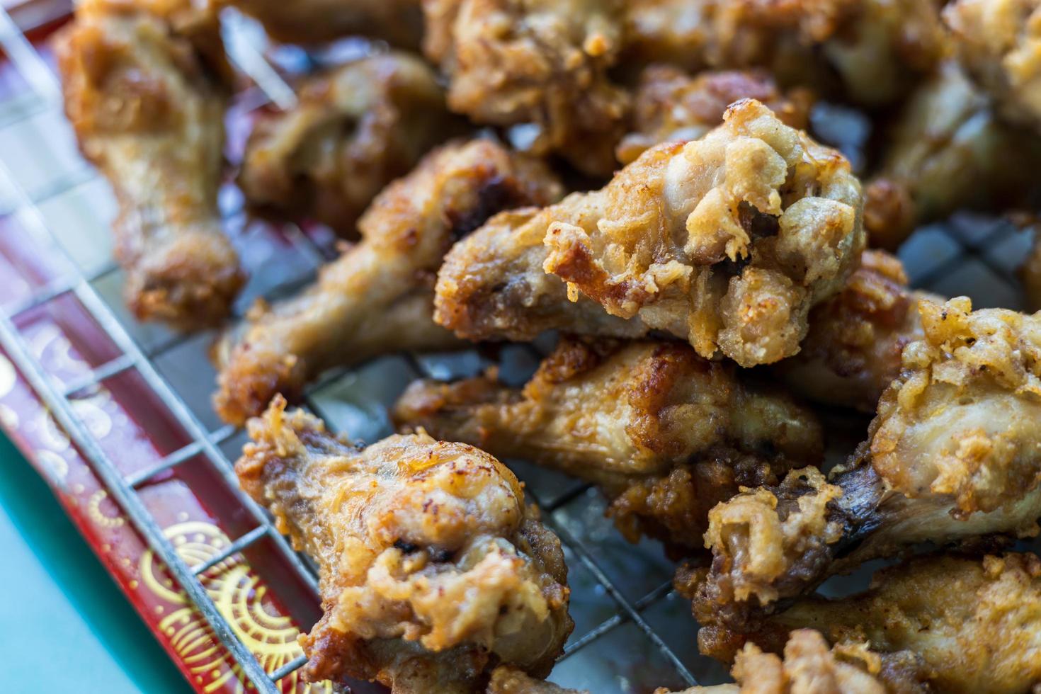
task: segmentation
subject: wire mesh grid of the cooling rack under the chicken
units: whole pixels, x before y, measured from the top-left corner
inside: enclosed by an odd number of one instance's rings
[[[291,106],[294,92],[261,50],[257,31],[240,16],[229,14],[226,24],[229,53],[235,66],[256,85],[238,100],[237,107],[250,110],[269,102],[282,108]],[[97,175],[78,158],[71,143],[65,147],[69,151],[61,151],[60,160],[43,157],[45,161],[37,166],[39,171],[26,174],[12,165],[14,155],[7,145],[22,136],[23,130],[37,137],[49,137],[66,126],[53,71],[2,7],[0,49],[26,85],[17,98],[0,102],[0,217],[15,217],[42,247],[59,253],[70,268],[57,281],[37,287],[27,298],[0,311],[0,345],[91,461],[152,549],[170,567],[257,691],[280,691],[278,682],[300,668],[304,659],[298,658],[265,672],[207,595],[199,577],[264,538],[271,540],[275,550],[316,593],[313,566],[291,549],[266,512],[238,488],[229,452],[233,455],[243,434],[220,426],[210,411],[212,380],[205,378],[210,375],[205,354],[208,338],[181,336],[133,323],[120,306],[120,272],[108,259],[104,245],[99,251],[96,245],[84,245],[62,235],[60,223],[56,222],[60,215],[48,213],[49,206],[59,207],[57,203],[62,199],[98,184]],[[26,129],[27,124],[32,128]],[[76,228],[92,224],[106,231],[104,205],[98,202],[99,198],[87,197],[90,204],[76,208],[80,215],[75,221]],[[223,204],[225,213],[240,215],[240,198],[234,191],[229,191],[227,198]],[[100,200],[105,197],[102,195]],[[283,233],[297,261],[280,260],[279,264],[282,269],[290,265],[293,272],[283,273],[279,281],[255,287],[252,292],[248,290],[252,295],[239,303],[239,316],[247,302],[258,294],[272,300],[299,288],[330,256],[328,245],[315,241],[296,226],[286,226]],[[900,256],[919,287],[948,295],[967,293],[979,306],[1019,308],[1021,292],[1014,269],[1018,259],[1025,255],[1029,242],[1011,225],[961,217],[919,230],[902,249]],[[270,265],[262,267],[259,275],[264,275]],[[33,357],[17,324],[19,316],[66,295],[74,297],[85,308],[118,348],[119,355],[73,382],[58,384]],[[542,354],[544,350],[537,344],[510,345],[501,351],[500,360],[512,367],[512,378],[523,380]],[[385,357],[359,368],[326,375],[308,389],[304,406],[352,438],[375,440],[389,432],[385,406],[411,380],[472,375],[487,363],[477,352]],[[83,389],[130,370],[142,377],[192,441],[146,469],[124,474],[77,416],[71,399]],[[511,378],[510,369],[504,368],[503,372]],[[217,556],[189,565],[163,535],[137,490],[157,474],[198,456],[204,457],[220,473],[254,526]],[[560,536],[570,567],[577,628],[552,679],[598,694],[721,680],[723,669],[696,654],[696,625],[687,605],[671,592],[672,565],[664,560],[660,547],[651,541],[634,547],[623,540],[604,517],[603,500],[588,485],[523,461],[509,462],[525,481],[533,500],[542,508],[548,524]]]

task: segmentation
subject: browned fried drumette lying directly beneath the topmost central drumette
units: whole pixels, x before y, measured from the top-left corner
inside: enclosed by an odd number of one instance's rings
[[[417,381],[393,416],[592,482],[628,538],[689,556],[713,505],[821,457],[813,413],[738,370],[680,342],[564,339],[523,389]]]

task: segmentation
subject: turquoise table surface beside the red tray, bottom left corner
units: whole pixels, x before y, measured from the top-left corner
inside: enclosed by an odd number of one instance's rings
[[[2,433],[0,663],[4,692],[192,692]]]

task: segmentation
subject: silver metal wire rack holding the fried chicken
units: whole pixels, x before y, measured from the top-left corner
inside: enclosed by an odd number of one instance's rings
[[[251,31],[254,34],[255,31],[245,20],[234,15],[229,17],[226,29],[227,45],[233,62],[256,84],[257,91],[250,97],[253,105],[272,102],[283,108],[291,106],[295,102],[293,89],[251,38]],[[59,113],[60,98],[55,75],[2,7],[0,49],[28,85],[17,103],[0,103],[0,133],[5,128],[42,113]],[[157,367],[157,363],[170,355],[184,351],[194,351],[194,358],[203,363],[204,348],[194,342],[194,338],[176,335],[167,335],[154,343],[143,345],[139,337],[134,335],[133,326],[121,317],[118,310],[98,290],[99,282],[117,272],[115,264],[106,261],[100,266],[81,269],[81,259],[66,248],[42,213],[41,205],[46,201],[93,180],[95,176],[83,164],[72,172],[50,177],[43,185],[30,187],[18,179],[0,151],[0,216],[9,214],[17,217],[22,228],[33,234],[42,246],[60,253],[72,268],[57,282],[37,288],[28,299],[0,311],[0,346],[28,380],[59,426],[88,459],[115,499],[170,568],[177,583],[256,690],[278,692],[279,680],[300,668],[305,660],[299,658],[276,671],[264,671],[209,597],[200,576],[264,538],[271,540],[281,559],[316,593],[315,572],[310,563],[295,552],[278,533],[268,513],[239,490],[231,461],[222,448],[222,444],[233,441],[238,433],[231,427],[208,428],[206,422],[211,415],[206,400],[186,396]],[[296,227],[287,227],[286,236],[295,251],[307,261],[310,269],[289,284],[266,292],[269,298],[272,291],[278,294],[307,281],[313,275],[313,269],[329,256],[327,248],[316,243],[311,236]],[[1018,307],[1020,292],[1012,279],[1013,265],[1025,253],[1027,242],[1029,239],[1017,235],[1009,225],[971,219],[920,230],[902,251],[902,257],[918,286],[946,293],[970,293],[981,306]],[[947,284],[955,276],[958,277],[958,282],[948,289]],[[107,333],[120,354],[72,383],[57,384],[33,357],[26,337],[19,330],[17,319],[30,310],[65,295],[74,297],[85,308]],[[515,351],[506,355],[506,358],[522,365],[534,364],[540,358],[540,353],[532,346],[510,349]],[[307,391],[304,399],[306,407],[331,419],[330,423],[334,428],[337,425],[346,427],[352,436],[377,436],[381,433],[378,416],[375,423],[370,416],[358,425],[360,420],[355,415],[359,411],[370,411],[381,403],[385,404],[412,378],[445,378],[454,375],[456,369],[476,370],[482,363],[475,353],[451,358],[404,355],[388,359],[390,361],[381,360],[360,369],[339,370],[326,376]],[[192,442],[170,453],[153,466],[126,475],[98,444],[72,407],[71,399],[85,388],[131,370],[136,371],[157,395]],[[354,400],[346,405],[342,397],[345,384],[353,388],[354,393]],[[376,390],[383,391],[382,395],[366,391],[374,384],[378,385]],[[358,393],[370,402],[358,401]],[[218,555],[203,563],[189,565],[163,535],[163,529],[150,514],[137,492],[157,474],[199,456],[220,474],[236,503],[248,512],[254,525]],[[696,627],[687,607],[670,592],[671,567],[659,557],[658,547],[652,543],[644,543],[650,546],[642,549],[625,546],[625,557],[616,562],[612,561],[612,547],[615,546],[612,543],[617,543],[618,546],[625,543],[611,536],[613,530],[602,517],[602,507],[598,506],[599,496],[590,493],[588,486],[555,477],[554,473],[540,471],[524,463],[517,463],[514,469],[526,481],[529,493],[543,509],[548,523],[558,533],[565,546],[572,567],[573,606],[584,615],[577,617],[579,626],[558,664],[557,672],[563,671],[563,679],[567,679],[569,669],[575,673],[588,669],[591,664],[604,663],[613,658],[608,654],[610,649],[618,652],[619,649],[635,648],[640,658],[645,657],[646,651],[633,646],[637,641],[649,644],[654,651],[654,663],[648,667],[659,670],[654,673],[654,676],[661,677],[656,684],[682,687],[711,684],[710,680],[718,679],[722,675],[721,668],[696,656],[693,641]],[[603,652],[598,652],[598,649]],[[621,691],[634,691],[631,683],[627,682],[614,682],[612,686]],[[595,691],[600,694],[600,691],[607,690]]]

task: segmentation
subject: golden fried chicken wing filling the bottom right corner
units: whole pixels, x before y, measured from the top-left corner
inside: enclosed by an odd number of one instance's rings
[[[1041,561],[917,557],[877,572],[864,593],[802,598],[748,638],[772,650],[796,626],[914,652],[936,691],[1031,692],[1041,683]]]

